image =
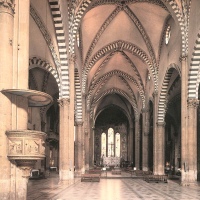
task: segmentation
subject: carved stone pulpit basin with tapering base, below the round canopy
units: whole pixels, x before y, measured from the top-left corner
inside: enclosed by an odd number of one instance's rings
[[[45,157],[46,133],[35,130],[6,131],[8,137],[8,159],[29,177],[37,160]]]

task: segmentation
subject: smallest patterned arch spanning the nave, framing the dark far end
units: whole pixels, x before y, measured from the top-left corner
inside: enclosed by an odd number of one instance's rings
[[[95,101],[92,102],[92,105],[90,108],[90,117],[91,118],[93,118],[93,110],[94,110],[95,104],[109,94],[119,94],[119,95],[123,96],[125,99],[127,99],[130,102],[131,106],[133,107],[133,110],[135,112],[135,118],[138,118],[139,115],[138,115],[137,102],[133,101],[133,98],[129,97],[129,95],[126,92],[124,92],[118,88],[111,88],[111,89],[103,92],[98,99],[96,99]]]

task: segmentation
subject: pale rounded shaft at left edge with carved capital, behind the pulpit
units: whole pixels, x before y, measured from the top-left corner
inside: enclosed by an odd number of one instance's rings
[[[0,2],[0,27],[0,90],[2,90],[12,88],[14,4],[7,4],[6,1]],[[8,97],[11,98],[11,95]],[[9,199],[10,196],[15,198],[15,194],[10,192],[12,187],[10,177],[15,174],[11,174],[12,166],[7,159],[7,137],[5,135],[6,130],[11,129],[12,123],[11,103],[8,97],[0,93],[0,199]]]

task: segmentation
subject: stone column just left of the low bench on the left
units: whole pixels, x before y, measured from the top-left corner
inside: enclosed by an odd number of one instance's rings
[[[83,141],[82,141],[82,134],[83,134],[83,122],[76,122],[76,171],[78,174],[83,173]]]

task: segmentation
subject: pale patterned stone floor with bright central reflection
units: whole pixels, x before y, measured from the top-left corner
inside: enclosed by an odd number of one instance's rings
[[[168,183],[147,183],[123,172],[122,175],[108,174],[100,182],[60,184],[58,174],[40,180],[29,180],[28,200],[181,200],[200,199],[200,186],[182,187],[177,181]]]

